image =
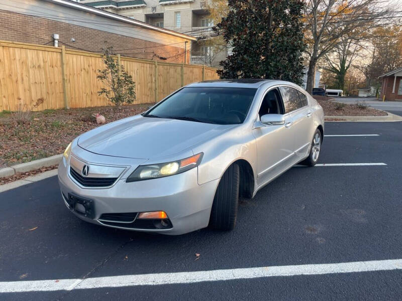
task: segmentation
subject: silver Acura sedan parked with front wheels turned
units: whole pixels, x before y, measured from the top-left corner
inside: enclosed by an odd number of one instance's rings
[[[314,166],[323,137],[322,107],[293,83],[193,83],[75,138],[58,178],[67,208],[90,223],[230,230],[239,197],[253,198],[295,164]]]

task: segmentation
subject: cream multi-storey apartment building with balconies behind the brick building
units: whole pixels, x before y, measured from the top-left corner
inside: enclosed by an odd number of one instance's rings
[[[173,30],[197,38],[191,41],[191,64],[205,64],[218,67],[219,62],[226,58],[228,50],[222,47],[213,51],[208,46],[209,36],[213,26],[209,19],[207,1],[202,0],[80,0],[81,4],[102,9],[121,16]],[[215,52],[215,53],[214,53]]]

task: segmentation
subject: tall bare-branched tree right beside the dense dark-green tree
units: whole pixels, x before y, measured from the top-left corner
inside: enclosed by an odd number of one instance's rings
[[[317,63],[345,43],[344,37],[354,40],[383,23],[389,11],[380,5],[380,0],[307,0],[309,71],[307,91],[312,92]],[[381,22],[382,21],[382,22]]]

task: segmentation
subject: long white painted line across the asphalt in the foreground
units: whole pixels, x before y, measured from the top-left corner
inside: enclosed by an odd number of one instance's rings
[[[277,276],[322,275],[402,269],[402,259],[373,260],[325,264],[264,266],[250,268],[220,269],[210,271],[121,275],[85,279],[35,280],[0,282],[0,293],[27,291],[56,291],[122,287],[139,285],[162,285],[225,281]]]

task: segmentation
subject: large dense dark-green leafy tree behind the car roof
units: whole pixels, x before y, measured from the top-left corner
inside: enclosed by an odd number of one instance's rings
[[[301,83],[303,77],[302,0],[229,0],[217,25],[231,46],[221,78],[272,78]]]

